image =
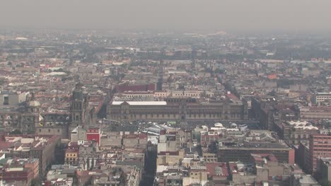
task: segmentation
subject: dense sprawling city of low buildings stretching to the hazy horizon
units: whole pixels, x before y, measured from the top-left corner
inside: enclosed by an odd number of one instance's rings
[[[330,185],[331,37],[0,30],[1,185]]]

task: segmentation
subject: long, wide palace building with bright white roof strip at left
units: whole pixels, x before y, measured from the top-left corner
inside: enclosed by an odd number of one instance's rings
[[[248,106],[241,101],[198,102],[196,99],[168,98],[165,101],[112,101],[107,108],[110,120],[245,120]]]

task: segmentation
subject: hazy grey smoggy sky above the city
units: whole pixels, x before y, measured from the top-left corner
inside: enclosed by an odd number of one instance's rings
[[[0,0],[0,27],[331,31],[331,0]]]

